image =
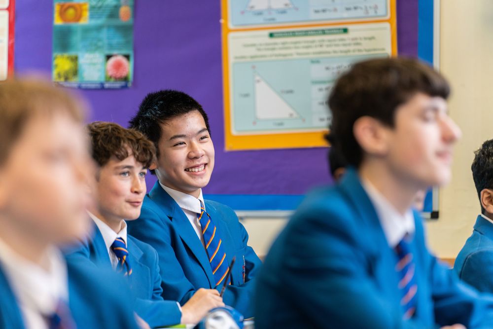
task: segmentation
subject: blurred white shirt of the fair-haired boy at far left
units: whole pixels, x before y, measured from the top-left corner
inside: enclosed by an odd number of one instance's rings
[[[18,255],[0,240],[0,263],[16,296],[26,328],[47,329],[46,317],[60,300],[68,304],[67,264],[55,247],[42,256],[47,270]]]

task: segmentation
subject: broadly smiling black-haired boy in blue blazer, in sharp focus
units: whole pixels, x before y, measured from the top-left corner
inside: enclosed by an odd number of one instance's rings
[[[140,219],[128,225],[157,250],[163,297],[184,303],[198,289],[220,290],[226,281],[224,303],[252,316],[260,260],[235,212],[202,195],[214,168],[207,114],[185,93],[162,90],[145,97],[130,126],[157,148],[149,169],[158,182],[144,198]]]

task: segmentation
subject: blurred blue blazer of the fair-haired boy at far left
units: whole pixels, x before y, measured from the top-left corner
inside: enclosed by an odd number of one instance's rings
[[[67,258],[69,308],[77,328],[138,329],[132,296],[115,273]],[[107,282],[113,282],[108,285]],[[21,310],[0,266],[0,328],[24,329]]]

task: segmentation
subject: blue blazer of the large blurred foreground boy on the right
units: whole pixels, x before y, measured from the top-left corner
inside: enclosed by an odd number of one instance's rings
[[[257,277],[255,328],[493,328],[493,299],[429,254],[415,213],[415,317],[403,322],[397,256],[354,169],[306,197]]]

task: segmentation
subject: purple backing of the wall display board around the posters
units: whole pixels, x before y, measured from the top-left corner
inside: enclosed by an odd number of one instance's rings
[[[16,7],[15,71],[49,77],[52,1],[22,0]],[[210,117],[215,168],[205,193],[296,196],[331,183],[326,148],[224,151],[219,0],[136,1],[134,17],[133,85],[81,91],[92,107],[90,120],[127,126],[148,92],[182,90]],[[397,31],[399,54],[416,56],[418,0],[397,0]],[[149,189],[155,178],[148,176]]]

